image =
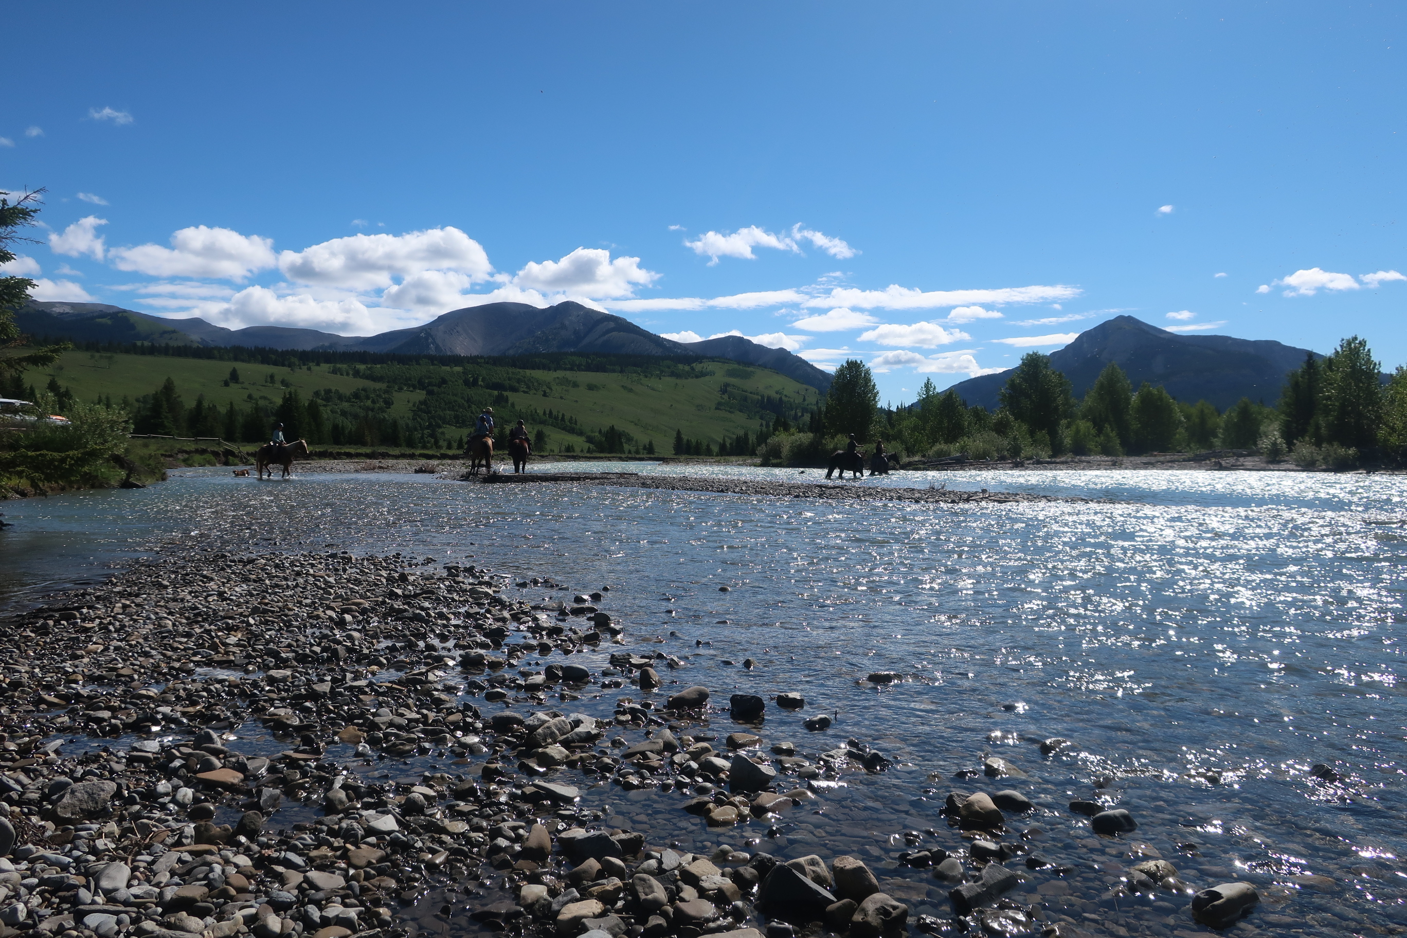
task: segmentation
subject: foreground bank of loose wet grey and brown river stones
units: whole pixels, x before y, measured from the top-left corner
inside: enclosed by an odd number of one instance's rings
[[[1259,900],[1193,896],[1109,779],[1067,809],[995,757],[924,789],[936,828],[806,841],[789,814],[825,824],[891,759],[801,695],[716,699],[682,641],[626,647],[608,602],[401,555],[208,553],[0,623],[0,938],[1054,937],[1142,932],[1140,910],[1220,927]],[[798,712],[805,741],[763,737]],[[1048,858],[1037,814],[1076,818],[1099,863]],[[657,833],[680,823],[718,845]],[[1097,904],[1062,904],[1102,865],[1123,875],[1092,880]]]

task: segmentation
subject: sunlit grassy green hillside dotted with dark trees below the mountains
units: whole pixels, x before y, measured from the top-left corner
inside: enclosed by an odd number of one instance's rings
[[[25,381],[42,390],[53,378],[79,399],[125,402],[138,429],[145,420],[152,432],[155,399],[170,378],[163,405],[176,413],[170,428],[177,435],[232,442],[263,439],[272,422],[283,419],[317,443],[449,446],[469,433],[474,415],[490,404],[501,426],[522,418],[529,432],[546,435],[539,449],[559,453],[640,451],[653,442],[663,454],[673,451],[675,430],[719,451],[725,443],[733,447],[743,433],[756,442],[778,415],[795,422],[817,399],[813,388],[733,361],[642,364],[601,356],[560,367],[539,359],[529,363],[549,367],[477,359],[269,366],[73,350],[51,368],[27,373]],[[592,367],[602,370],[587,370]],[[290,405],[291,399],[297,404]],[[197,401],[201,408],[193,406]],[[227,419],[231,405],[235,423]],[[616,433],[605,435],[612,426]]]

